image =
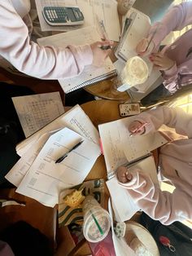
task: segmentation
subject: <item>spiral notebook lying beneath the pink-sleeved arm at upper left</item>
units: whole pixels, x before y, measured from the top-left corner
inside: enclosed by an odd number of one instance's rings
[[[59,46],[68,45],[81,46],[92,42],[101,41],[101,37],[95,27],[85,27],[76,29],[67,33],[59,33],[54,36],[39,38],[38,44],[41,46]],[[72,90],[77,90],[84,86],[89,86],[99,81],[103,81],[108,77],[116,75],[116,68],[108,57],[103,66],[95,67],[93,65],[85,66],[81,74],[76,77],[59,79],[59,83],[63,91],[67,94]]]

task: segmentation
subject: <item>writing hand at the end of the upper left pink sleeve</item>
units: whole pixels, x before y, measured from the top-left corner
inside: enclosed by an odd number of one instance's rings
[[[106,60],[107,56],[111,53],[111,48],[107,50],[103,50],[102,46],[110,46],[112,47],[113,42],[111,41],[104,41],[104,42],[94,42],[90,45],[91,50],[93,52],[93,65],[100,67],[103,65],[104,61]]]

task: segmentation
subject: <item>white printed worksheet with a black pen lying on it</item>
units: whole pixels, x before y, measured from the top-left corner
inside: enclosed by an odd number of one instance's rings
[[[81,145],[62,162],[55,161],[79,141]],[[47,140],[16,192],[32,197],[43,205],[54,207],[59,192],[82,183],[100,154],[98,144],[64,128]]]

